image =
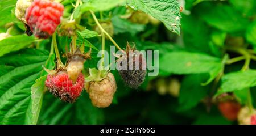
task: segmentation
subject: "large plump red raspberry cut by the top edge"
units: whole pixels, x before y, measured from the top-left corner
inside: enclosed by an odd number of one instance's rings
[[[26,21],[36,37],[48,38],[60,24],[64,6],[49,0],[35,0],[26,11]]]

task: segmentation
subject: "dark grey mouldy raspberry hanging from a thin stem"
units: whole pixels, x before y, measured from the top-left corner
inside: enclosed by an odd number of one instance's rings
[[[133,59],[129,59],[129,53],[131,53],[130,58]],[[135,65],[135,58],[139,58],[139,67],[136,67]],[[130,45],[127,44],[126,54],[118,59],[118,62],[120,63],[121,67],[123,67],[122,62],[127,62],[127,69],[118,71],[119,75],[122,77],[123,81],[125,81],[127,86],[131,88],[141,86],[146,77],[146,69],[144,69],[146,67],[146,59],[143,57],[143,54],[138,50],[131,49]],[[133,70],[129,70],[129,67],[131,66],[133,66]]]

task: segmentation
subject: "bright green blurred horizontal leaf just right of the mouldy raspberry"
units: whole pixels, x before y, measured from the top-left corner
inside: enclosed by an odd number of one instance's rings
[[[185,51],[166,53],[159,59],[159,68],[174,74],[211,73],[221,66],[219,58]]]

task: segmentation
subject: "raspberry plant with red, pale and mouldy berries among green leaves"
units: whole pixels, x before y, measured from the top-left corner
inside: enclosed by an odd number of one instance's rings
[[[255,8],[254,0],[0,1],[0,124],[255,124]],[[132,51],[140,69],[110,70],[100,50],[123,66]],[[159,50],[158,76],[141,69],[141,50]]]

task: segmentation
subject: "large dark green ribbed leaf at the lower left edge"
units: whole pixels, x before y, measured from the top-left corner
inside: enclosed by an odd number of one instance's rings
[[[32,120],[28,116],[31,114],[31,86],[40,76],[46,54],[41,50],[24,49],[0,58],[13,58],[6,61],[9,68],[0,76],[0,124],[28,124]],[[34,59],[37,56],[45,59]]]

